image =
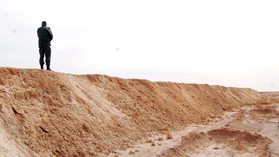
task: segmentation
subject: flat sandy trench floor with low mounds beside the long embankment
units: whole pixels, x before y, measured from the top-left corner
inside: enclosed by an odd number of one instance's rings
[[[171,132],[172,140],[166,139],[166,134],[153,133],[153,137],[148,137],[148,140],[154,141],[156,146],[151,146],[151,143],[146,143],[143,140],[133,148],[117,151],[119,152],[118,156],[127,156],[130,151],[135,152],[135,150],[139,150],[139,152],[129,154],[129,156],[276,156],[278,155],[276,147],[279,141],[276,140],[277,136],[275,136],[278,134],[278,129],[276,128],[278,124],[275,122],[278,121],[278,117],[269,121],[259,121],[253,119],[255,110],[258,109],[255,107],[242,107],[241,110],[234,112],[224,112],[222,118],[210,119],[214,120],[210,124],[188,125],[184,130]],[[244,114],[241,115],[242,112]],[[269,114],[264,112],[260,115],[264,119]],[[238,121],[238,119],[243,120]],[[261,132],[264,129],[264,125],[269,125],[268,128],[272,129],[272,134]],[[254,133],[253,131],[257,129],[260,131]],[[214,136],[210,134],[210,132],[214,132],[213,130],[217,132]],[[237,133],[234,134],[234,132]],[[234,135],[219,137],[220,134]],[[187,136],[192,136],[192,138],[186,140],[190,143],[185,143],[185,138],[189,138]],[[196,139],[196,136],[200,136],[200,138]],[[159,137],[163,137],[164,141],[158,141]],[[195,140],[193,140],[193,137],[195,137]],[[250,139],[254,139],[255,142],[251,142]],[[160,144],[161,146],[159,146]],[[114,156],[114,154],[109,156]]]

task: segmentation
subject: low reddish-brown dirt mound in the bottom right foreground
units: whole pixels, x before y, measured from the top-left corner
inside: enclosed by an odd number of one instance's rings
[[[207,133],[190,133],[182,138],[180,145],[164,151],[160,156],[202,156],[202,152],[208,149],[223,149],[229,156],[247,155],[247,152],[253,156],[270,156],[271,142],[257,133],[221,128]]]

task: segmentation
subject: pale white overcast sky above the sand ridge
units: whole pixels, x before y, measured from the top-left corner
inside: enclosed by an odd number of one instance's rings
[[[0,66],[279,91],[279,1],[0,0]]]

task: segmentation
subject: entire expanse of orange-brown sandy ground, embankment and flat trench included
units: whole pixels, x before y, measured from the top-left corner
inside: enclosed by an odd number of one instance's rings
[[[0,67],[0,156],[279,156],[279,92]]]

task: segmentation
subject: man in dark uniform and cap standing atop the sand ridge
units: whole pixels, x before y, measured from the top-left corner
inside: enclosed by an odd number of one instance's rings
[[[39,53],[40,53],[40,65],[41,69],[43,69],[43,65],[47,65],[47,70],[50,69],[50,56],[51,56],[51,48],[50,41],[53,38],[52,32],[49,27],[47,27],[47,22],[42,22],[42,27],[39,27],[37,30],[38,38],[39,38]],[[45,55],[45,62],[44,62]]]

